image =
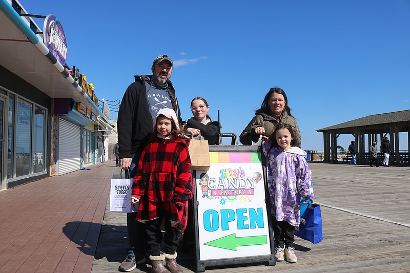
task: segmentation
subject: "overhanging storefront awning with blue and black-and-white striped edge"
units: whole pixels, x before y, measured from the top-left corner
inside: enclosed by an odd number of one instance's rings
[[[22,7],[22,14],[27,12]],[[73,77],[49,53],[43,37],[30,29],[34,20],[20,16],[7,0],[0,0],[0,65],[51,98],[72,98],[102,114]]]

